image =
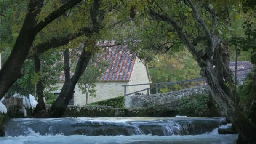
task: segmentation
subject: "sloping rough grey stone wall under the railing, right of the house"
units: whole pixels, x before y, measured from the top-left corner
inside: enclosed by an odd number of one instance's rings
[[[191,96],[195,94],[208,94],[208,85],[197,86],[194,88],[187,88],[179,91],[171,91],[168,93],[158,93],[147,95],[136,95],[136,96],[125,96],[125,107],[155,107],[160,108],[170,107],[173,102],[176,103],[177,99],[182,97]]]

